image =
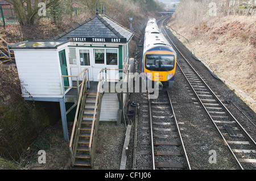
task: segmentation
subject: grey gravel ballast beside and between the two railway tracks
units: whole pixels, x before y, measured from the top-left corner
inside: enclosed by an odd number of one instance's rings
[[[240,121],[240,124],[245,128],[251,137],[256,137],[255,127],[249,121],[254,121],[255,112],[253,112],[243,101],[236,95],[228,86],[219,79],[213,77],[205,65],[196,61],[192,57],[192,53],[170,33],[170,37],[175,42],[176,46],[181,50],[191,65],[208,83],[210,88],[219,95],[220,99],[226,102],[226,107]],[[142,39],[143,40],[143,39]],[[141,39],[138,40],[138,45],[141,44]],[[143,42],[143,41],[142,41]],[[137,45],[137,56],[134,61],[134,72],[141,73],[142,52],[143,46]],[[179,58],[179,57],[178,57]],[[192,170],[213,169],[213,170],[228,170],[238,169],[225,146],[220,134],[217,133],[213,123],[209,120],[204,110],[195,104],[193,92],[191,91],[184,75],[181,74],[179,68],[176,69],[175,83],[172,88],[168,88],[171,95],[171,100],[174,102],[174,111],[179,123],[181,136],[184,141],[185,149],[188,154],[189,162]],[[143,93],[131,93],[127,102],[139,103],[138,106],[138,148],[136,162],[145,161],[144,157],[139,154],[139,142],[143,139],[141,131],[142,105],[144,100]],[[236,105],[236,106],[234,106]],[[243,113],[249,118],[245,117]],[[127,110],[127,107],[126,107]],[[129,117],[132,124],[130,133],[129,153],[127,154],[126,169],[133,168],[133,150],[134,150],[134,121],[135,116]],[[97,137],[96,159],[94,161],[94,169],[100,170],[119,170],[123,144],[125,140],[126,125],[116,125],[115,123],[100,123],[99,133]],[[216,163],[210,162],[212,151],[216,151]],[[148,169],[138,168],[136,169]]]

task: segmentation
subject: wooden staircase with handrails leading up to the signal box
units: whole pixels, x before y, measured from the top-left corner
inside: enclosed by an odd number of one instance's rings
[[[127,71],[127,75],[129,75],[130,65],[123,66],[128,66],[127,69],[121,70]],[[80,91],[78,91],[79,96],[71,139],[69,142],[69,150],[71,151],[73,166],[93,168],[93,162],[96,155],[96,140],[98,124],[100,122],[102,96],[105,94],[103,87],[105,81],[108,81],[108,79],[104,78],[104,74],[108,69],[102,69],[100,71],[100,78],[98,79],[97,84],[94,84],[95,89],[93,89],[92,83],[89,83],[88,86],[86,86],[89,81],[88,70],[89,69],[84,69],[82,71],[86,74],[84,74],[84,78],[80,84]],[[81,73],[77,75],[77,77],[80,75]],[[88,76],[86,77],[86,75]],[[129,80],[129,76],[127,77],[127,80]],[[117,81],[119,81],[119,79]]]

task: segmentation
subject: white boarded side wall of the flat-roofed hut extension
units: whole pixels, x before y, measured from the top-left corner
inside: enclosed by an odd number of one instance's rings
[[[23,49],[14,50],[14,53],[24,97],[62,97],[60,63],[56,49]]]

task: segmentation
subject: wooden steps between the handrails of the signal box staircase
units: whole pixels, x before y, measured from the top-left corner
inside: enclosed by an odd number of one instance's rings
[[[84,106],[81,113],[81,125],[77,133],[77,149],[74,166],[92,167],[89,150],[90,133],[92,131],[92,122],[94,108],[96,105],[96,94],[85,93]],[[97,112],[96,112],[97,117]]]

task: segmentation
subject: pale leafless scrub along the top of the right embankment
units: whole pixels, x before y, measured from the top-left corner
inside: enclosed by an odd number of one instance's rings
[[[177,5],[173,19],[183,26],[200,26],[209,19],[220,19],[227,15],[253,15],[252,0],[183,0]]]

